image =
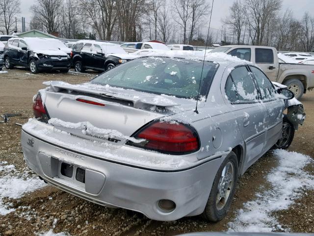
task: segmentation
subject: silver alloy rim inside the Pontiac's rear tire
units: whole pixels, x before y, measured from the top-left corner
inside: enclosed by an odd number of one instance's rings
[[[221,177],[219,179],[216,195],[217,210],[222,210],[226,206],[234,187],[234,179],[235,167],[234,164],[230,161],[222,170]]]

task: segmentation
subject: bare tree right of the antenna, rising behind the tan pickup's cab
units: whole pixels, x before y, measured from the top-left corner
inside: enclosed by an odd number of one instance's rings
[[[229,8],[230,16],[228,16],[223,22],[230,28],[234,29],[236,42],[240,44],[240,38],[242,29],[246,23],[246,9],[240,0],[235,1]]]

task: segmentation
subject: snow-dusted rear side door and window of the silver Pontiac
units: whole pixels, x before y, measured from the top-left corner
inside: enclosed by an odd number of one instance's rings
[[[245,66],[236,67],[231,72],[225,90],[245,143],[245,170],[263,154],[266,107],[259,100],[256,86]]]

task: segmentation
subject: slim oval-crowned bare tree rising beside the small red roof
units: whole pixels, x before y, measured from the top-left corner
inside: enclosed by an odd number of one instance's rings
[[[163,42],[168,42],[170,38],[170,32],[172,29],[171,19],[169,17],[169,11],[166,4],[163,4],[159,10],[158,18],[158,30],[160,38]]]

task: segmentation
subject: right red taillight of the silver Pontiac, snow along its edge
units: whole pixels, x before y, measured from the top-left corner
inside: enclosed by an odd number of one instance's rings
[[[142,128],[135,138],[145,139],[133,146],[172,154],[185,154],[199,149],[196,131],[183,123],[153,122]]]

